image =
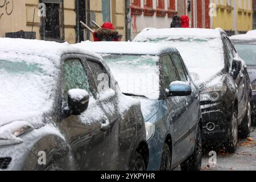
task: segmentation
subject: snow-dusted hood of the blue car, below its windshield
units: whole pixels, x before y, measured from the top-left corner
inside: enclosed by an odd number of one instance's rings
[[[141,110],[144,121],[150,120],[160,109],[159,100],[150,100],[148,98],[138,98],[141,102]]]

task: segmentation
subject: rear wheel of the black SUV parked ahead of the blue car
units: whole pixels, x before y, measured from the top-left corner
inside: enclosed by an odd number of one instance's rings
[[[240,126],[240,136],[241,138],[247,138],[251,132],[251,105],[248,102],[247,113],[245,118],[243,118],[242,124]]]

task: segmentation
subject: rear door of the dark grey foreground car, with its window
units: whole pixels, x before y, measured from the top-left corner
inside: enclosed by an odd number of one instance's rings
[[[119,154],[119,122],[121,114],[118,109],[118,96],[115,93],[115,81],[100,61],[87,59],[90,75],[96,81],[97,100],[100,101],[106,115],[106,122],[102,130],[110,131],[109,150],[105,151],[110,156],[109,170],[117,169]]]

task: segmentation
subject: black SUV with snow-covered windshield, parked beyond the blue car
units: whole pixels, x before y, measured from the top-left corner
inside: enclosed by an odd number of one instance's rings
[[[238,131],[251,128],[251,85],[246,65],[221,28],[145,29],[135,42],[168,44],[178,49],[193,81],[200,88],[203,140],[237,148]]]

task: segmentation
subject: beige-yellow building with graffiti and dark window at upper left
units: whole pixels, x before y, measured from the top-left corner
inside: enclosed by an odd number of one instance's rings
[[[36,39],[81,42],[91,38],[80,20],[112,21],[125,40],[125,0],[5,0],[0,1],[0,37],[7,32],[36,32]],[[44,11],[46,10],[46,11]],[[46,16],[46,17],[44,17]],[[93,24],[90,24],[93,27]],[[28,36],[29,37],[29,36]]]

